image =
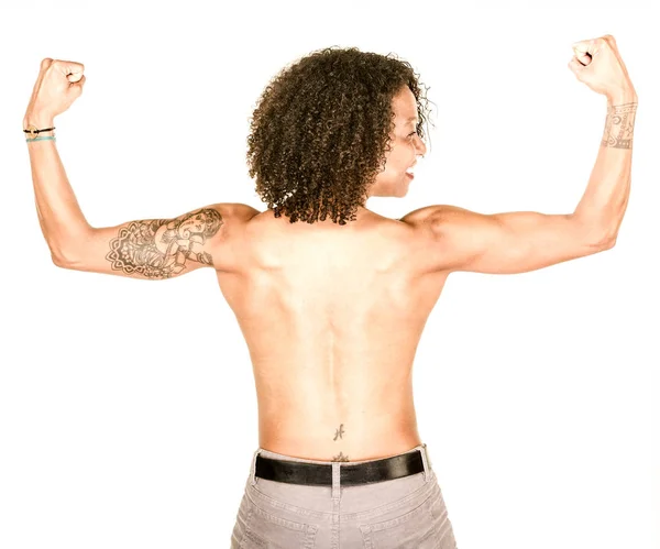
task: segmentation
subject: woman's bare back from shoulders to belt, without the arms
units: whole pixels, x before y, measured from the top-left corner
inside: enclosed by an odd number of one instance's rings
[[[217,271],[252,359],[260,446],[359,461],[420,443],[411,369],[447,274],[424,273],[406,222],[361,210],[344,226],[272,210],[234,233]]]

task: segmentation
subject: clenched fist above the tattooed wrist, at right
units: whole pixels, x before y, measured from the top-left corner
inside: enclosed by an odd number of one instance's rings
[[[573,52],[575,55],[569,68],[595,92],[610,99],[623,94],[637,95],[614,36],[606,34],[600,39],[576,42]]]

